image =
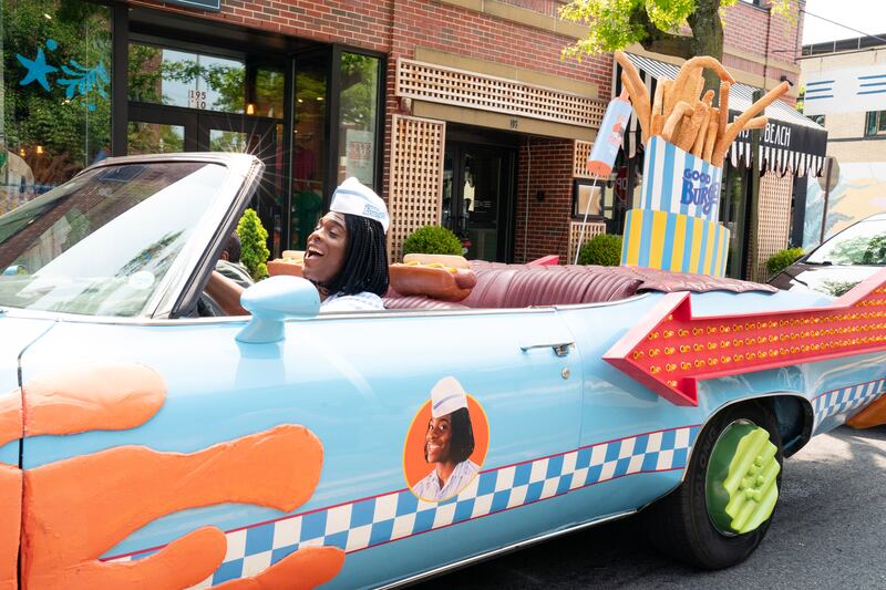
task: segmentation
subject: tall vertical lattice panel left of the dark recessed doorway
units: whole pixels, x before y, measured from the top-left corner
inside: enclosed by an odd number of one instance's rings
[[[394,115],[391,127],[388,257],[396,262],[410,234],[422,226],[440,225],[446,124]]]

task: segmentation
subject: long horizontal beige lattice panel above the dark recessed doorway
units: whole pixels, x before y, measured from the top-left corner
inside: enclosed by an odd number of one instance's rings
[[[509,115],[599,128],[606,103],[504,77],[400,59],[395,94]]]

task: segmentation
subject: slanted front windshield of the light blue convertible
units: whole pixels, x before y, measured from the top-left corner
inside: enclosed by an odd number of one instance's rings
[[[0,217],[0,307],[134,317],[225,183],[205,162],[100,167]]]

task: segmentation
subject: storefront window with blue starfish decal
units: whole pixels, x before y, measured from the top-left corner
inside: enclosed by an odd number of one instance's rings
[[[111,9],[0,0],[0,214],[111,151]]]

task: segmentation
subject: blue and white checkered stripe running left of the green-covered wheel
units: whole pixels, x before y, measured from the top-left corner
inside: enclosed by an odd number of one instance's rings
[[[682,469],[698,433],[699,426],[646,433],[482,472],[457,496],[441,503],[420,500],[401,489],[231,530],[222,566],[194,588],[255,576],[305,547],[360,551],[618,477]],[[158,550],[107,561],[143,559]]]

